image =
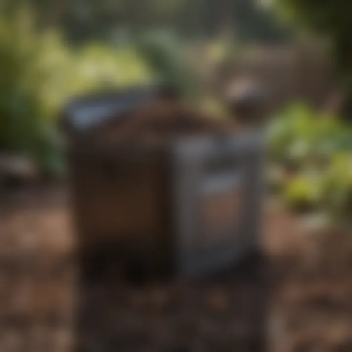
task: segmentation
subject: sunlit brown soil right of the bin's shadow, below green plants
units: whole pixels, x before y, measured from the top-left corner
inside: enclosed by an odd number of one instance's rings
[[[267,220],[269,351],[351,351],[351,231],[311,233],[283,211]]]

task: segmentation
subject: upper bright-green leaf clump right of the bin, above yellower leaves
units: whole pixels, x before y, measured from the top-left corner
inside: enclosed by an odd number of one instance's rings
[[[352,129],[337,118],[296,104],[273,119],[268,129],[270,154],[276,162],[297,168],[352,151]]]

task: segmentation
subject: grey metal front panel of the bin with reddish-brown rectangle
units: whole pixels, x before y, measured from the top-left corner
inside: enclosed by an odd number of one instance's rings
[[[263,141],[258,133],[174,147],[177,273],[233,264],[258,246]]]

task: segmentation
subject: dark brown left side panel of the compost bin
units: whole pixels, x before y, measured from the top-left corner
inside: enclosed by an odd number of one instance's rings
[[[108,165],[79,159],[73,178],[81,253],[107,250],[125,263],[162,264],[168,208],[164,159],[112,159]]]

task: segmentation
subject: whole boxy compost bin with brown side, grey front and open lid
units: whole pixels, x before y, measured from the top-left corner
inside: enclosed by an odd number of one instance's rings
[[[194,277],[259,248],[259,131],[176,138],[160,150],[104,149],[89,137],[111,112],[132,118],[136,106],[162,98],[160,90],[136,89],[77,100],[66,110],[78,248],[88,275],[118,267]]]

